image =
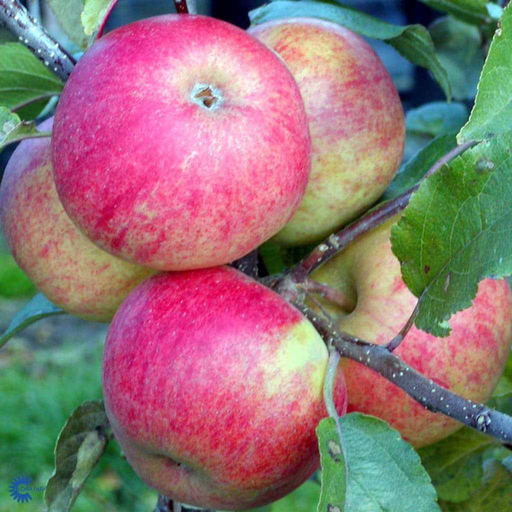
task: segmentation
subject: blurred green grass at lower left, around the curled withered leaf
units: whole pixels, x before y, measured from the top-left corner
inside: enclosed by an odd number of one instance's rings
[[[42,493],[17,503],[9,496],[14,477],[28,475],[45,485],[53,472],[54,445],[71,412],[84,400],[101,398],[102,339],[69,340],[61,346],[31,348],[12,339],[0,352],[0,511],[42,512]],[[116,442],[88,480],[76,512],[152,512],[156,493],[134,474]]]

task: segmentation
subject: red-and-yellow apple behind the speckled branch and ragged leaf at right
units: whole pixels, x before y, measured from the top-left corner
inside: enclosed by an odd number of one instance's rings
[[[356,303],[352,312],[332,305],[340,330],[385,344],[407,322],[416,305],[391,251],[396,218],[366,233],[312,274]],[[500,378],[512,343],[512,297],[506,280],[480,282],[473,305],[450,319],[450,336],[435,337],[412,327],[395,354],[439,385],[484,402]],[[442,439],[462,424],[419,403],[359,362],[342,359],[348,411],[388,421],[415,447]]]

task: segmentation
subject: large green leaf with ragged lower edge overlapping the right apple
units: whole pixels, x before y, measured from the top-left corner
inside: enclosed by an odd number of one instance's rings
[[[391,230],[415,324],[445,336],[485,277],[512,272],[512,132],[481,142],[425,179]]]

